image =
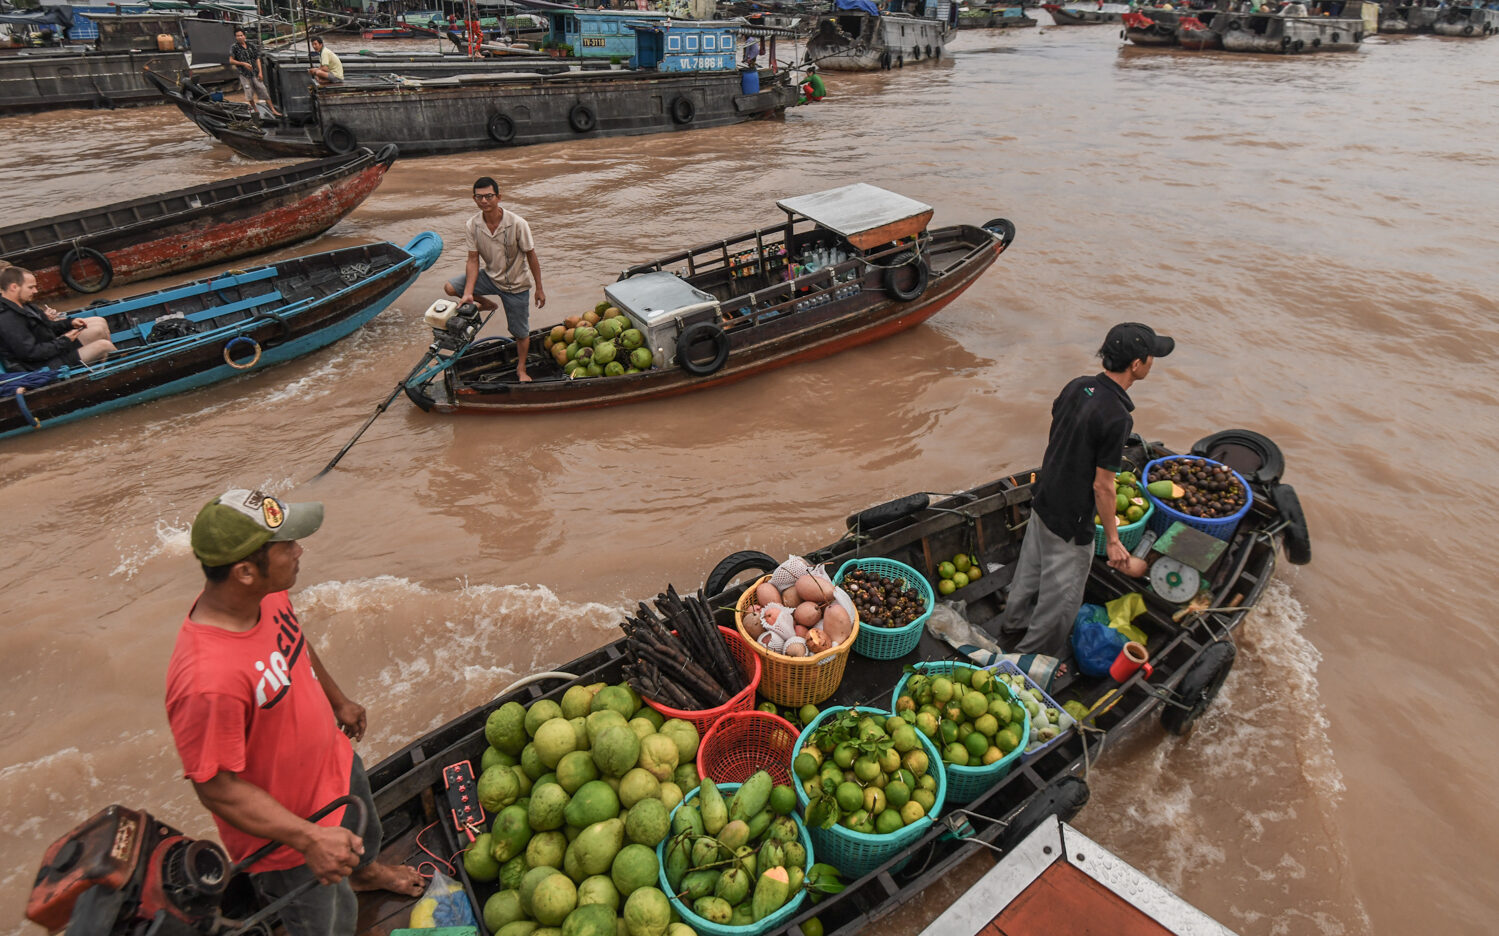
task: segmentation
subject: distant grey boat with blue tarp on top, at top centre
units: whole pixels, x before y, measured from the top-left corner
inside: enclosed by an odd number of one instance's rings
[[[937,18],[934,2],[911,6],[914,12],[881,12],[871,0],[835,0],[833,9],[812,24],[806,62],[830,72],[937,62],[956,27]]]

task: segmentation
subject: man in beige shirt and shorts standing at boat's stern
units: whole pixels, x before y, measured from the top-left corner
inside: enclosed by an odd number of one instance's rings
[[[459,303],[475,303],[493,312],[490,296],[505,306],[505,326],[516,339],[516,378],[531,382],[526,374],[526,352],[531,350],[531,288],[537,290],[537,308],[547,304],[541,288],[541,261],[531,238],[531,225],[499,204],[499,183],[489,176],[474,183],[478,213],[463,225],[468,264],[462,276],[447,282],[444,291],[459,297]]]

